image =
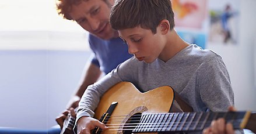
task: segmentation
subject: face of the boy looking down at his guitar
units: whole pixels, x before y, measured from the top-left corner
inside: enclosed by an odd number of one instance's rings
[[[163,51],[164,39],[159,32],[159,27],[156,34],[141,27],[120,30],[118,33],[127,42],[129,53],[135,55],[139,61],[152,63]]]

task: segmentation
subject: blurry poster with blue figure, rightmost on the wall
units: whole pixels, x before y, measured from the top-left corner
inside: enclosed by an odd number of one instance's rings
[[[210,0],[209,16],[209,44],[237,44],[239,0]]]

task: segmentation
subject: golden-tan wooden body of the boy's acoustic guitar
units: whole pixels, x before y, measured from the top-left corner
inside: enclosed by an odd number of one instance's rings
[[[107,124],[116,124],[116,117],[119,117],[118,128],[122,128],[129,121],[132,115],[138,113],[168,113],[174,100],[174,92],[170,86],[162,86],[148,92],[141,93],[129,82],[120,82],[107,90],[101,97],[100,103],[95,111],[94,118],[100,119],[106,113],[113,102],[118,102],[114,108]],[[118,129],[117,128],[117,129]],[[101,133],[125,133],[122,130],[103,131]]]

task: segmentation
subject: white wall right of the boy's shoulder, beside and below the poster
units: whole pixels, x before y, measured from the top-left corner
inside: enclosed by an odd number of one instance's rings
[[[255,111],[256,1],[241,0],[240,2],[239,43],[236,46],[208,45],[208,48],[219,53],[225,61],[232,81],[237,109]]]

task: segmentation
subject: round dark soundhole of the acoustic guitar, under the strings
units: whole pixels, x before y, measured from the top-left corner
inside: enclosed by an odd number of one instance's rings
[[[132,130],[136,128],[136,126],[139,124],[139,121],[141,120],[142,113],[135,113],[132,115],[127,122],[125,122],[124,128],[122,133],[124,134],[131,134]]]

